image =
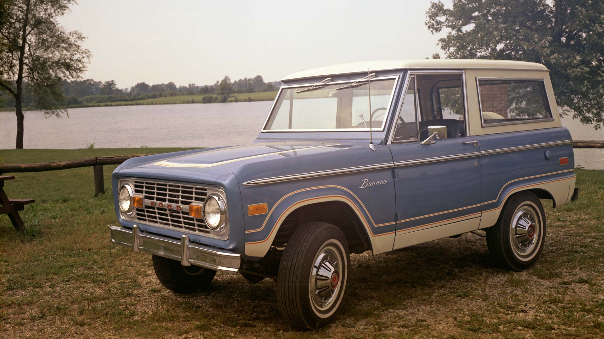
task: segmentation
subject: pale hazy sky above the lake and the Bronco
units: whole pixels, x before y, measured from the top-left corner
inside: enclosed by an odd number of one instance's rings
[[[118,87],[213,84],[364,60],[440,52],[426,28],[428,0],[79,0],[59,19],[88,37],[84,78]],[[442,1],[446,6],[450,0]]]

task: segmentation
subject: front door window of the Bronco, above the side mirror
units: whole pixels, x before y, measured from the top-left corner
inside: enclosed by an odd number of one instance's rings
[[[466,136],[461,74],[411,75],[393,142],[428,138],[428,126],[444,126],[446,138]]]

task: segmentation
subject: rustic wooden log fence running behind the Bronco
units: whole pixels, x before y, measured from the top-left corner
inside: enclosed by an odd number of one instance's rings
[[[576,140],[573,148],[604,148],[604,141]],[[42,172],[67,170],[68,168],[89,167],[94,168],[94,195],[105,192],[103,179],[103,165],[119,165],[132,157],[149,156],[151,154],[131,154],[129,156],[87,157],[84,159],[65,160],[57,162],[40,163],[8,163],[0,165],[2,173]]]

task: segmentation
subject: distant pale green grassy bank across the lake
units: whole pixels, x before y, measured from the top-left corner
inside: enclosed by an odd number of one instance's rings
[[[98,104],[90,103],[79,105],[77,107],[190,104],[201,103],[202,97],[204,97],[204,95],[177,95],[176,97],[161,97],[137,101],[115,101],[115,103]],[[275,97],[277,97],[276,90],[274,92],[234,93],[233,95],[231,95],[231,97],[228,98],[226,102],[234,103],[235,101],[272,101],[275,100]],[[0,112],[14,112],[14,107],[0,107]]]

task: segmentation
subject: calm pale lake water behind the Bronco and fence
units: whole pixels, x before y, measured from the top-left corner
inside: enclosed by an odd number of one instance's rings
[[[69,118],[25,112],[25,148],[216,147],[254,141],[272,101],[70,109]],[[604,140],[570,117],[562,119],[576,140]],[[14,112],[0,112],[0,148],[14,148]],[[575,163],[604,170],[604,150],[576,149]],[[1,159],[0,159],[1,162]]]

